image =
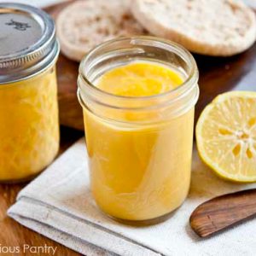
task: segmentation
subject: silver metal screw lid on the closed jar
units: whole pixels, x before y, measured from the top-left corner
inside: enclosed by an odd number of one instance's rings
[[[0,84],[41,72],[59,51],[54,21],[43,10],[0,3]]]

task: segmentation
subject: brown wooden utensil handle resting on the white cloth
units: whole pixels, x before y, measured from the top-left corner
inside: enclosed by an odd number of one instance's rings
[[[198,236],[210,236],[256,214],[256,189],[221,195],[202,203],[189,223]]]

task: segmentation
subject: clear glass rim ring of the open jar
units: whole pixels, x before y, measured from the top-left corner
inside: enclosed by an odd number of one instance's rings
[[[108,91],[101,90],[100,88],[96,87],[95,84],[90,82],[90,79],[88,79],[86,77],[86,75],[84,74],[84,66],[85,66],[86,62],[89,61],[91,55],[96,54],[96,52],[99,51],[100,49],[103,49],[113,43],[118,43],[118,42],[127,41],[127,40],[130,40],[131,44],[132,44],[132,42],[136,43],[138,41],[141,41],[141,42],[148,41],[148,42],[152,42],[152,43],[166,44],[166,46],[168,45],[168,46],[171,46],[173,49],[176,49],[177,52],[180,55],[182,55],[184,58],[187,58],[187,60],[191,64],[191,70],[189,71],[187,78],[183,81],[183,84],[180,84],[179,86],[177,86],[176,88],[174,88],[172,90],[167,90],[160,94],[154,94],[151,96],[119,96],[119,95],[110,93]],[[85,55],[84,58],[82,59],[82,61],[80,62],[79,78],[84,80],[84,83],[89,85],[90,90],[94,90],[99,96],[101,96],[101,95],[109,96],[109,97],[112,97],[113,99],[123,99],[125,101],[130,101],[130,100],[131,101],[134,101],[134,100],[148,101],[148,100],[154,100],[154,99],[160,98],[160,97],[170,96],[171,94],[176,94],[178,91],[184,90],[184,87],[188,86],[188,84],[192,84],[192,85],[196,84],[198,81],[198,78],[199,78],[199,73],[198,73],[197,65],[196,65],[193,55],[191,55],[189,50],[185,49],[182,45],[174,43],[165,38],[158,38],[158,37],[151,37],[151,36],[137,36],[137,37],[113,38],[111,40],[103,42],[102,44],[98,44],[95,48],[91,49],[90,52],[87,55]]]

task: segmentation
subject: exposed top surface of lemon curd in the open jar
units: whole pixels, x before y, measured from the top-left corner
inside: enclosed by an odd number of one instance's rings
[[[118,96],[153,96],[183,84],[177,71],[148,62],[135,62],[104,73],[97,87]]]

